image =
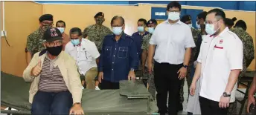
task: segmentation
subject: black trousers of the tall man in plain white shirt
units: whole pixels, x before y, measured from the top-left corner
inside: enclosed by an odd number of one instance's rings
[[[160,114],[167,112],[167,92],[169,91],[168,114],[177,114],[177,103],[179,103],[179,88],[182,83],[178,79],[181,65],[170,65],[168,63],[155,62],[154,82],[156,85],[156,101]]]

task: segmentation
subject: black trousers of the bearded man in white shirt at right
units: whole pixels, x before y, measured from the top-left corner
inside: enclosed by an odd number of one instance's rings
[[[220,108],[219,102],[206,99],[199,96],[200,108],[202,115],[227,115],[228,108]]]

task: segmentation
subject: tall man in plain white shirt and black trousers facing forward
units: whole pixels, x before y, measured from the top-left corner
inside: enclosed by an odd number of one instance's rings
[[[195,47],[191,28],[179,20],[181,5],[172,1],[167,5],[167,21],[156,27],[148,54],[148,69],[154,70],[156,100],[159,113],[167,112],[167,92],[169,91],[168,114],[176,115],[179,103],[179,88],[187,74],[191,58],[191,47]],[[156,47],[156,53],[155,53]],[[152,68],[153,54],[155,65]]]

